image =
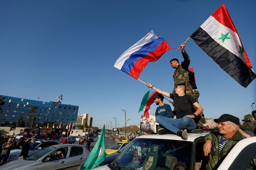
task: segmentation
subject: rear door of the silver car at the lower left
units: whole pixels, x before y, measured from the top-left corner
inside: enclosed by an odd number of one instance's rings
[[[66,169],[77,169],[85,159],[85,149],[81,146],[71,146]]]

